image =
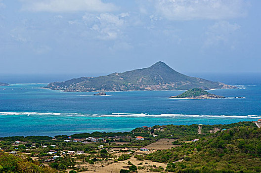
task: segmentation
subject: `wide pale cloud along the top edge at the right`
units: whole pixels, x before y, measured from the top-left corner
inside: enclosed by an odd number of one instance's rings
[[[156,0],[155,8],[170,20],[229,19],[246,15],[244,0]]]

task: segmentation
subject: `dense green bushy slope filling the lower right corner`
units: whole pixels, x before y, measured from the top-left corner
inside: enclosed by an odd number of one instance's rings
[[[167,171],[180,173],[260,173],[261,129],[234,127],[193,143],[157,151],[146,159],[170,163]]]

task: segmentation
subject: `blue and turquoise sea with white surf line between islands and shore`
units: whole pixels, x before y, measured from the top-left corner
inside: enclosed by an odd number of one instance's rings
[[[212,90],[230,98],[211,100],[168,99],[183,91],[107,92],[109,96],[93,96],[43,86],[0,87],[0,136],[128,131],[141,126],[229,124],[261,118],[261,86]]]

